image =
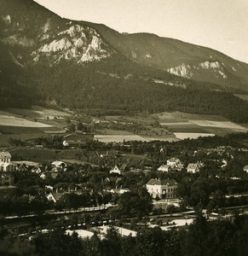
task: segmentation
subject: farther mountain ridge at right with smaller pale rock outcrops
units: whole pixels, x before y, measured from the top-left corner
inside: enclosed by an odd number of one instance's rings
[[[248,64],[214,49],[149,33],[119,33],[101,24],[85,24],[95,27],[109,44],[132,61],[183,78],[248,90]]]

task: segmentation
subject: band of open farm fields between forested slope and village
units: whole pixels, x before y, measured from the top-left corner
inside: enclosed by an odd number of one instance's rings
[[[182,112],[87,116],[86,119],[85,123],[85,113],[69,110],[37,106],[31,109],[7,108],[0,112],[0,146],[9,147],[11,138],[18,138],[25,143],[37,137],[63,137],[68,133],[70,124],[76,127],[79,122],[87,126],[96,141],[102,143],[157,140],[173,142],[185,138],[225,136],[233,132],[248,131],[247,125],[235,124],[221,116]]]

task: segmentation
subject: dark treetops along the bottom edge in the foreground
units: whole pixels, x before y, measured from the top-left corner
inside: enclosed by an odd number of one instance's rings
[[[97,234],[82,240],[76,233],[69,236],[61,229],[38,234],[31,242],[4,236],[0,240],[0,252],[3,255],[42,256],[245,256],[248,253],[247,242],[247,217],[208,222],[199,215],[187,230],[163,231],[155,227],[140,230],[136,236],[120,236],[110,226],[102,240]]]

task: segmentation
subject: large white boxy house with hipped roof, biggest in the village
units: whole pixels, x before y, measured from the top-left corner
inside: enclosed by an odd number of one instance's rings
[[[177,182],[175,179],[151,178],[146,184],[147,192],[153,198],[173,199],[176,198]]]

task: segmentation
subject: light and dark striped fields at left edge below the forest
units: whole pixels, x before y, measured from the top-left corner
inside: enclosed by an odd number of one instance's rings
[[[70,113],[51,108],[6,108],[0,110],[0,147],[9,146],[9,138],[29,140],[63,134]]]

